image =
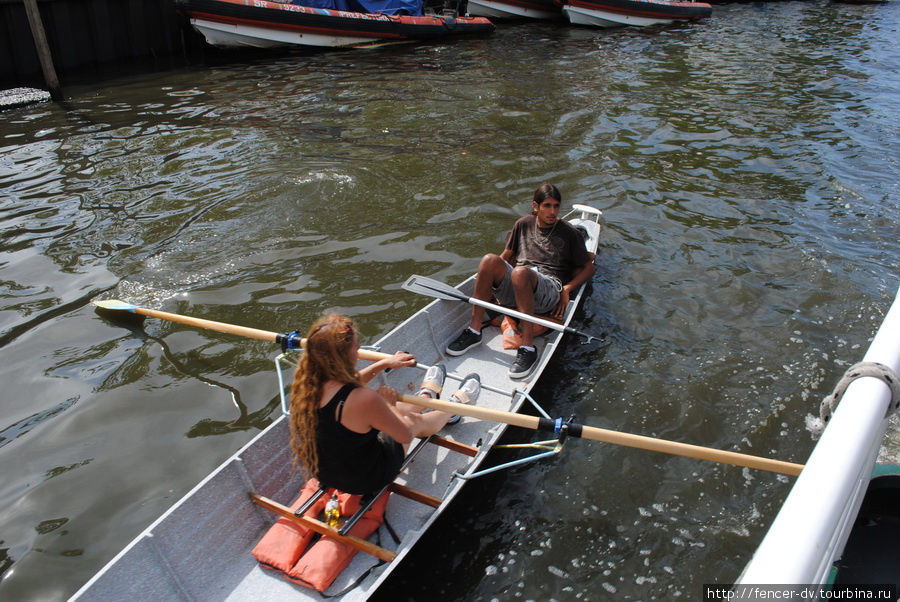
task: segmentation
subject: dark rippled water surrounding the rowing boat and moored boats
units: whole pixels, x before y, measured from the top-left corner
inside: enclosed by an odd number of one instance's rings
[[[503,24],[0,114],[0,598],[74,593],[279,411],[269,344],[91,300],[278,332],[340,311],[372,341],[427,302],[407,276],[466,277],[545,180],[604,210],[576,326],[610,335],[554,358],[548,411],[803,462],[898,288],[898,28],[896,1]],[[791,483],[572,441],[473,482],[382,594],[697,599]]]

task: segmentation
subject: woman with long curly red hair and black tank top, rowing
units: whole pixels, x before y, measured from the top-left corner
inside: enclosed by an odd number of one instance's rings
[[[412,355],[397,352],[361,370],[358,359],[359,338],[350,318],[330,314],[312,325],[291,391],[291,448],[322,485],[366,494],[394,479],[414,438],[433,435],[459,417],[423,413],[398,401],[390,387],[364,386],[387,368],[415,366]],[[444,377],[443,366],[429,368],[419,395],[438,396]],[[478,376],[471,374],[451,400],[472,402],[479,392]]]

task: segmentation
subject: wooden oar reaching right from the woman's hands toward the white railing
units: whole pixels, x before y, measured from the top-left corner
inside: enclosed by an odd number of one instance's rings
[[[759,456],[750,456],[747,454],[724,451],[711,447],[701,447],[699,445],[678,443],[676,441],[666,441],[665,439],[656,439],[654,437],[645,437],[643,435],[621,433],[619,431],[612,431],[608,429],[597,428],[594,426],[565,423],[562,421],[562,419],[553,420],[548,418],[539,418],[537,416],[526,416],[525,414],[504,412],[503,410],[494,410],[492,408],[482,408],[473,405],[453,403],[451,401],[442,401],[440,399],[428,399],[413,395],[402,395],[401,398],[407,403],[415,404],[423,408],[440,410],[449,414],[470,416],[472,418],[479,418],[481,420],[502,422],[504,424],[520,426],[536,431],[550,431],[553,433],[558,433],[560,427],[565,424],[567,434],[571,437],[581,437],[582,439],[590,439],[592,441],[614,443],[616,445],[636,447],[639,449],[663,452],[676,456],[685,456],[688,458],[697,458],[699,460],[711,460],[713,462],[722,462],[724,464],[732,464],[734,466],[746,466],[747,468],[756,468],[759,470],[778,472],[791,476],[797,476],[803,470],[802,464],[794,464],[792,462],[783,462],[781,460],[761,458]]]

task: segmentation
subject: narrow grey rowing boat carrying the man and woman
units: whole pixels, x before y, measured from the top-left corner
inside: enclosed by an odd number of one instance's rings
[[[574,213],[567,219],[584,234],[588,251],[595,252],[600,235],[600,211],[576,205]],[[461,295],[470,295],[474,277],[456,288]],[[561,327],[568,326],[572,321],[584,290],[582,286],[577,294],[572,295]],[[290,341],[296,339],[292,335],[275,335],[128,307],[128,311],[145,316],[280,341],[288,348],[292,348]],[[471,372],[479,374],[482,390],[476,406],[469,408],[473,414],[482,412],[493,416],[517,412],[530,399],[531,389],[564,334],[560,330],[551,330],[537,340],[541,348],[537,366],[528,377],[513,381],[508,376],[508,367],[515,351],[504,349],[503,336],[497,328],[486,328],[482,344],[469,353],[459,357],[445,354],[446,345],[468,324],[470,317],[471,309],[466,303],[435,300],[381,338],[375,349],[409,351],[416,356],[420,367],[444,364],[448,372],[445,398],[462,381],[460,375]],[[369,350],[361,352],[361,357],[371,358],[372,354],[377,353],[380,351]],[[254,503],[250,494],[257,500],[274,501],[273,505],[265,507],[277,511],[290,504],[304,485],[304,479],[295,470],[292,461],[284,396],[285,385],[290,386],[288,379],[294,360],[290,351],[276,360],[283,395],[283,414],[150,525],[73,599],[320,599],[316,591],[262,568],[251,554],[277,517]],[[389,374],[380,374],[379,381],[371,384],[385,384],[399,391],[408,391],[418,384],[421,377],[422,373],[416,369],[393,370]],[[523,424],[520,426],[536,421],[547,425],[555,433],[567,432],[565,424],[546,415],[541,419],[512,415],[521,417]],[[575,429],[575,425],[572,428]],[[386,523],[391,529],[376,531],[381,545],[375,546],[375,554],[388,561],[378,561],[369,554],[357,554],[325,593],[338,593],[344,599],[365,599],[372,595],[462,487],[486,472],[479,472],[479,466],[505,429],[503,422],[464,417],[441,433],[445,439],[440,444],[424,444],[415,461],[398,475],[396,484],[405,493],[398,494],[392,489],[395,493],[385,513]],[[535,457],[557,451],[538,453]],[[384,547],[389,545],[385,542],[391,541],[391,530],[397,534],[399,543],[390,545],[393,549],[385,550]]]

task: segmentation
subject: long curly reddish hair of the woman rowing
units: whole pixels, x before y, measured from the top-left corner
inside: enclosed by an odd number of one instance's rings
[[[316,417],[322,386],[329,380],[361,386],[359,372],[350,360],[353,320],[329,314],[316,320],[306,335],[306,351],[300,356],[291,387],[291,449],[310,476],[319,472],[316,450]]]

